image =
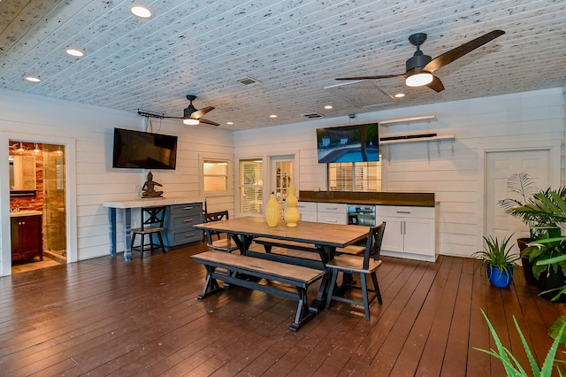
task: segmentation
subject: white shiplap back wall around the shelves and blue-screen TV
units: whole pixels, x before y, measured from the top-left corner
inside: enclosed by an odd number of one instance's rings
[[[433,95],[433,94],[432,94]],[[483,228],[480,182],[484,169],[478,156],[482,143],[528,148],[533,142],[564,140],[564,96],[562,88],[491,96],[471,100],[431,104],[399,110],[360,114],[353,123],[436,115],[432,122],[383,127],[382,133],[434,130],[439,135],[455,135],[452,142],[430,146],[426,142],[405,143],[390,148],[384,159],[384,190],[389,192],[433,192],[440,202],[440,253],[470,256],[481,249]],[[326,188],[325,165],[317,163],[315,130],[318,127],[347,125],[349,119],[316,119],[280,127],[266,127],[234,133],[236,158],[270,156],[298,150],[299,191]],[[483,151],[481,151],[483,153]],[[384,155],[386,155],[385,153]],[[563,152],[560,161],[562,166]],[[559,180],[563,182],[562,177]]]

